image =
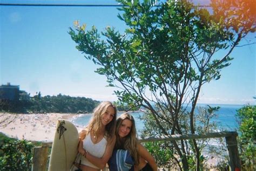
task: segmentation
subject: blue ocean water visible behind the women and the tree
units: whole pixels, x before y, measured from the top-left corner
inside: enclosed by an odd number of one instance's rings
[[[205,107],[207,104],[198,104],[198,107]],[[217,126],[219,130],[224,130],[225,131],[237,131],[238,129],[238,122],[237,122],[237,117],[235,117],[235,114],[237,114],[237,110],[239,108],[244,107],[244,105],[212,105],[210,104],[211,107],[217,107],[219,106],[220,109],[216,113],[218,114],[218,117],[213,119],[212,121],[217,122]],[[123,112],[118,112],[117,117],[122,114]],[[130,114],[133,115],[135,121],[136,121],[136,129],[138,132],[138,135],[140,135],[140,131],[143,130],[144,127],[144,121],[140,120],[139,117],[143,115],[142,112],[131,112],[129,111]],[[79,117],[74,118],[72,122],[76,125],[79,126],[86,126],[89,120],[91,119],[92,114],[81,114]]]

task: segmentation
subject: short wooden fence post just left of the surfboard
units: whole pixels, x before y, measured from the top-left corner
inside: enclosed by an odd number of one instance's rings
[[[45,171],[48,161],[48,147],[34,147],[32,171]]]

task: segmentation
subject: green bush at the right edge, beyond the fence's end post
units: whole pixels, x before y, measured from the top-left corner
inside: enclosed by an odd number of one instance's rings
[[[242,168],[256,170],[256,106],[245,106],[238,110],[240,120],[239,150]]]

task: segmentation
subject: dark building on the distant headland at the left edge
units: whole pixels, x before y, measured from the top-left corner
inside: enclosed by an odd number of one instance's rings
[[[25,91],[19,90],[19,85],[6,85],[0,86],[0,99],[1,100],[29,100],[29,94]]]

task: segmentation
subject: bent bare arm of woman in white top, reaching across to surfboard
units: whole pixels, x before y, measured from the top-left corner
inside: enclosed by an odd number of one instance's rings
[[[100,169],[103,169],[106,166],[107,161],[109,161],[109,159],[112,155],[115,142],[116,142],[116,138],[114,137],[114,139],[110,143],[107,143],[106,150],[105,150],[105,153],[102,156],[102,158],[97,158],[96,156],[93,156],[90,153],[87,153],[85,151],[85,149],[83,148],[82,140],[80,140],[80,142],[79,142],[78,151],[79,151],[79,153],[84,155],[84,157],[87,160],[89,160],[93,165],[97,166]]]

